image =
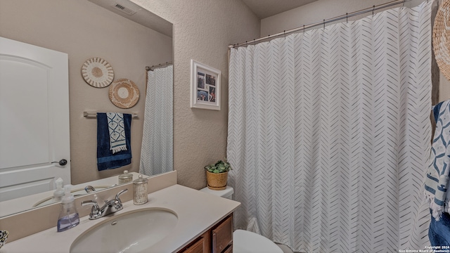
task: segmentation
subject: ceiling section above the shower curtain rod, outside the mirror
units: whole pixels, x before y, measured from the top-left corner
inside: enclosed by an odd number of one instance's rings
[[[258,18],[263,19],[317,0],[243,0]]]

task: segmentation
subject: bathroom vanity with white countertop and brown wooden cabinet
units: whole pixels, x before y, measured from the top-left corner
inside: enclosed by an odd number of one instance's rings
[[[91,247],[91,252],[103,252],[105,248],[103,247],[102,250],[102,243],[108,243],[108,238],[105,242],[103,239],[94,242],[86,239],[95,238],[97,235],[93,235],[91,231],[100,226],[102,226],[101,229],[112,231],[113,226],[119,225],[121,221],[130,222],[128,228],[120,229],[122,234],[136,235],[136,238],[141,238],[140,242],[127,242],[129,243],[129,252],[231,252],[233,248],[233,211],[239,205],[239,202],[233,200],[175,184],[149,193],[148,202],[144,205],[133,205],[133,201],[129,200],[123,202],[123,209],[119,212],[95,220],[89,220],[89,216],[84,216],[75,228],[60,233],[56,232],[56,227],[49,228],[6,243],[1,252],[76,252],[75,246],[81,242],[88,244],[83,246]],[[136,220],[133,221],[133,219],[144,220],[143,216],[136,215],[139,212],[153,210],[173,216],[169,218],[170,221],[167,219],[167,226],[170,227],[165,227],[164,217],[155,218],[160,221],[155,224],[146,223],[154,221],[139,222],[141,220],[137,220],[137,223]],[[123,219],[124,217],[131,217],[131,220],[127,221]],[[117,225],[115,225],[116,223]],[[145,227],[137,228],[134,225],[139,223],[143,223]],[[146,233],[139,229],[148,231],[149,238],[142,240]],[[162,231],[158,231],[158,229]],[[162,238],[151,238],[160,232],[164,234]],[[125,238],[125,236],[115,236],[115,234],[110,236],[111,241],[119,241],[117,238]],[[150,242],[151,240],[153,242]],[[142,245],[143,243],[152,245],[147,247],[147,245]],[[136,247],[137,250],[134,251],[133,247]],[[121,249],[117,249],[117,251],[119,250]]]

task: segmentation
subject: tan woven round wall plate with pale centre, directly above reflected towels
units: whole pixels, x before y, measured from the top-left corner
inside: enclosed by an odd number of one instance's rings
[[[138,86],[130,79],[117,79],[110,86],[110,100],[118,108],[132,108],[139,100]]]

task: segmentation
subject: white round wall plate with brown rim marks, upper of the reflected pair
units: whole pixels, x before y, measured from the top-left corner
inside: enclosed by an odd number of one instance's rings
[[[104,88],[113,82],[114,70],[106,60],[94,57],[83,63],[82,76],[89,85]]]

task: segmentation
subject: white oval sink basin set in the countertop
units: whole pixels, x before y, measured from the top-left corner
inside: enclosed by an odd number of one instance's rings
[[[70,253],[145,252],[145,249],[169,235],[177,221],[176,214],[167,209],[148,208],[116,213],[79,235],[70,246]]]

